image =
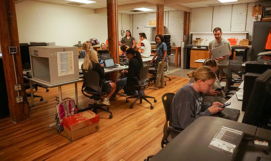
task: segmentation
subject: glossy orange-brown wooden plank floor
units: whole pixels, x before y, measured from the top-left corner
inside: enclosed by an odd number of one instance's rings
[[[165,113],[161,97],[165,93],[176,93],[187,78],[171,77],[166,88],[147,89],[146,95],[157,99],[154,109],[143,101],[135,103],[133,109],[125,102],[125,97],[118,96],[110,101],[109,114],[98,111],[100,130],[81,139],[70,142],[58,132],[53,132],[49,124],[54,123],[56,113],[55,96],[58,88],[39,88],[35,95],[48,99],[47,104],[31,107],[30,119],[18,124],[9,118],[0,119],[0,160],[144,160],[148,155],[161,150]],[[86,107],[92,100],[81,93],[82,82],[78,83],[79,107]],[[152,84],[151,84],[152,85]],[[62,86],[62,95],[74,96],[74,85]],[[39,101],[39,99],[35,99]],[[64,132],[61,134],[64,135]]]

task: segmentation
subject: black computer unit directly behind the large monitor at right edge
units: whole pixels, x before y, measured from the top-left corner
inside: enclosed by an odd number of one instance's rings
[[[244,92],[243,92],[243,102],[242,102],[242,111],[245,111],[247,103],[250,100],[252,93],[252,88],[255,83],[255,79],[258,78],[261,74],[259,73],[246,73],[244,75]]]

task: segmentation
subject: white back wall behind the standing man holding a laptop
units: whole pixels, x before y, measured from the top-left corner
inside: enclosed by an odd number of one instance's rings
[[[215,27],[221,27],[222,32],[249,31],[249,40],[252,40],[253,22],[255,21],[252,16],[252,7],[258,4],[264,7],[271,6],[270,1],[265,1],[193,8],[191,14],[191,32],[212,32]]]

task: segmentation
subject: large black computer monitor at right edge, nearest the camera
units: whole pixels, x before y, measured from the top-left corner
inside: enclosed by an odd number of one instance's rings
[[[256,78],[242,123],[271,129],[271,70]]]

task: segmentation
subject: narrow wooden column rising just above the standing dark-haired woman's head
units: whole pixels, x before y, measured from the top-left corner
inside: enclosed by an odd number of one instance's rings
[[[156,35],[164,35],[164,5],[156,5]]]

